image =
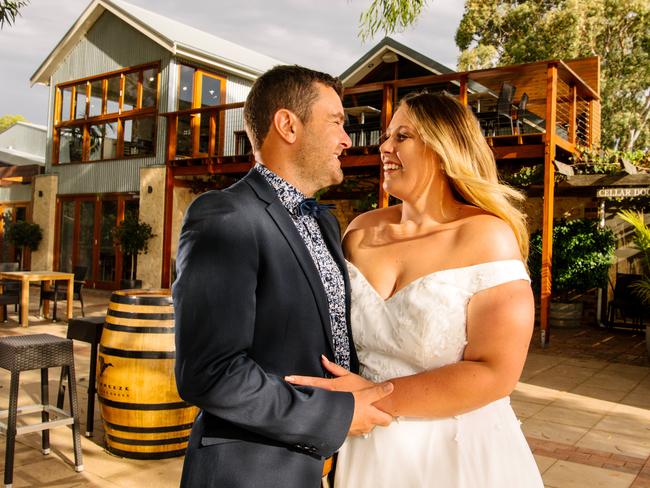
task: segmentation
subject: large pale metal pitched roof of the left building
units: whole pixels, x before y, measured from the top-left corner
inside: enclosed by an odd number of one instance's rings
[[[104,13],[111,12],[174,55],[194,59],[248,79],[282,61],[122,0],[93,0],[34,72],[30,81],[48,83],[68,52]]]

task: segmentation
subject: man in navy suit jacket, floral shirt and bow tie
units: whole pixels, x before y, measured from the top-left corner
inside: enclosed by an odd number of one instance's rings
[[[321,354],[356,370],[349,290],[336,219],[313,200],[342,181],[340,81],[277,66],[244,108],[258,164],[224,191],[197,198],[181,231],[176,381],[201,408],[181,484],[317,487],[345,436],[387,425],[372,403],[392,390],[353,394],[294,387],[285,375],[324,375]]]

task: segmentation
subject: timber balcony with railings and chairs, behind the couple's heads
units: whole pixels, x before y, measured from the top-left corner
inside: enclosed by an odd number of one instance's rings
[[[446,92],[469,106],[499,165],[517,160],[569,162],[576,146],[600,139],[599,59],[543,61],[502,68],[346,87],[352,147],[344,168],[379,168],[380,135],[397,102],[411,92]],[[162,114],[167,165],[174,176],[243,173],[250,168],[243,103]]]

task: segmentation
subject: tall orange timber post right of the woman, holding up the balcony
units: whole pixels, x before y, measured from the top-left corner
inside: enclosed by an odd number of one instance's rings
[[[553,258],[553,199],[555,190],[555,140],[557,116],[557,65],[549,63],[546,76],[546,133],[544,134],[544,216],[542,220],[542,283],[540,328],[542,347],[549,341],[549,312]]]

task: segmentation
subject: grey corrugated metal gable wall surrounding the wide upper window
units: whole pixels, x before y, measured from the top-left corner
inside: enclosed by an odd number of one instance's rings
[[[52,77],[51,96],[54,97],[58,83],[160,61],[158,109],[166,112],[169,106],[170,59],[166,50],[105,12],[59,66]],[[52,110],[50,107],[50,121],[53,119]],[[52,134],[48,134],[47,172],[59,175],[58,192],[61,195],[138,191],[140,168],[165,164],[165,121],[158,118],[155,157],[60,166],[51,166],[51,157]]]

